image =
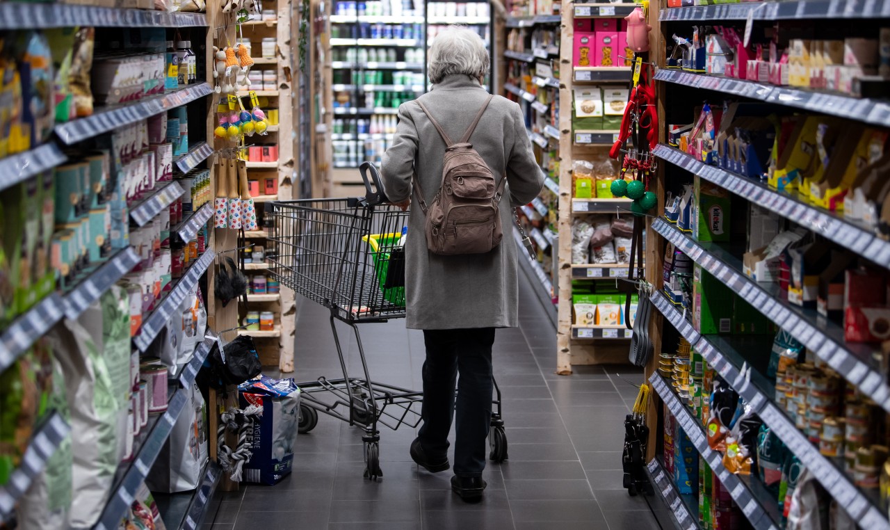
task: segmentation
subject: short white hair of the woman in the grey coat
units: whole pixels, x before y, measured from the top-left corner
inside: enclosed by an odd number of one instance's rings
[[[441,83],[446,76],[455,74],[478,79],[487,76],[490,69],[491,61],[485,41],[472,29],[449,26],[433,39],[427,72],[433,84]]]

